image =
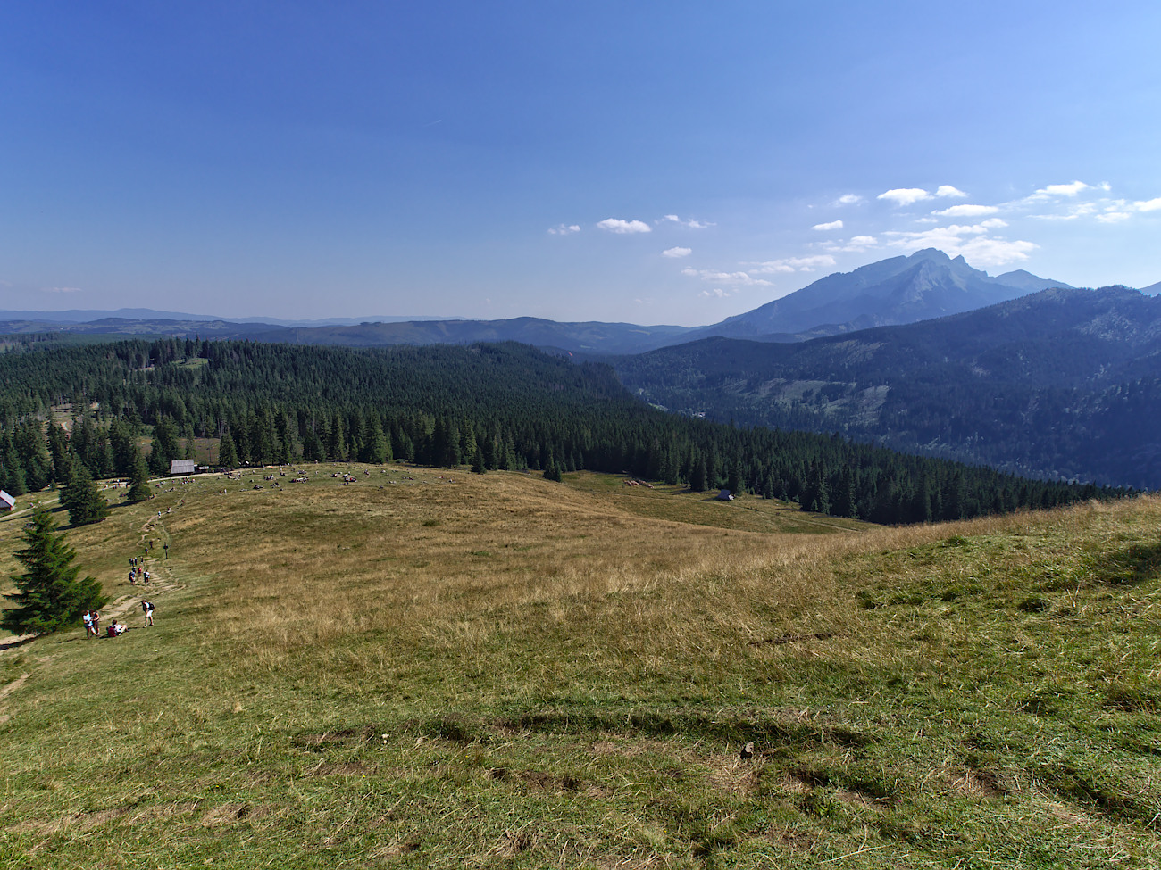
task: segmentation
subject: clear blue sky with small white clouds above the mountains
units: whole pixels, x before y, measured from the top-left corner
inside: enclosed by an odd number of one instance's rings
[[[8,2],[0,309],[698,325],[1161,281],[1161,3]]]

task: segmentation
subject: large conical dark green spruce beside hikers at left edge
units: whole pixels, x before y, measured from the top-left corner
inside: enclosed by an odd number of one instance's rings
[[[27,548],[13,553],[24,573],[10,577],[16,592],[5,597],[16,607],[3,611],[0,628],[14,635],[51,633],[108,601],[95,578],[77,579],[80,567],[71,564],[77,551],[65,543],[63,532],[53,532],[52,516],[37,507],[22,536]]]

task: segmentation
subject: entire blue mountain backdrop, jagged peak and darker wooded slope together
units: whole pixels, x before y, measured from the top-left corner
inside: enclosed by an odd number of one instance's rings
[[[920,251],[704,327],[540,318],[360,321],[179,312],[0,312],[0,334],[300,345],[518,341],[614,361],[682,413],[838,432],[1015,473],[1161,487],[1161,283],[1076,290]]]

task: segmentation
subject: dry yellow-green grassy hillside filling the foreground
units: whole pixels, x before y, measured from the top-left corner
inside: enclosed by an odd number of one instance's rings
[[[70,532],[106,624],[154,542],[157,625],[0,650],[0,867],[1161,865],[1159,499],[341,467]]]

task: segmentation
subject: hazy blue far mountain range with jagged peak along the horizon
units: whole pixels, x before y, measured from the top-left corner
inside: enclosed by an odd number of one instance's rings
[[[509,320],[383,317],[289,321],[122,309],[115,312],[0,311],[0,332],[59,329],[89,334],[199,335],[352,347],[519,341],[583,355],[621,355],[711,335],[802,341],[971,311],[1052,287],[1067,288],[1068,284],[1023,270],[989,277],[987,273],[973,269],[961,256],[952,260],[942,251],[929,248],[910,256],[871,263],[851,273],[828,275],[753,311],[701,327],[557,322],[531,317]]]

